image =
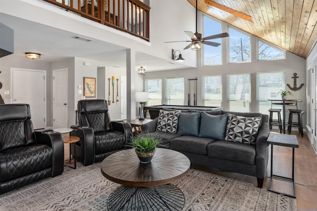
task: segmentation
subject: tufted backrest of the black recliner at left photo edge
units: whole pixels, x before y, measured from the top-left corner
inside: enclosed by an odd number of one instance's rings
[[[30,105],[0,105],[0,151],[36,143]]]

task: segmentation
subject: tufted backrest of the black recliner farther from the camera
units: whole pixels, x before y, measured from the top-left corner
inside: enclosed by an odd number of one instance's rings
[[[92,127],[94,132],[112,130],[106,100],[78,101],[79,125]]]

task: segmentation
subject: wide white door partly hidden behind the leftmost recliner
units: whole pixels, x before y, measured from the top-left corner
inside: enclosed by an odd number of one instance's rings
[[[11,68],[12,103],[30,105],[34,129],[46,127],[46,71]]]

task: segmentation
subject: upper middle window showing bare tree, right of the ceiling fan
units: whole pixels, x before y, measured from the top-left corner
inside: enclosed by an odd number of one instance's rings
[[[250,62],[250,37],[229,28],[229,62]]]

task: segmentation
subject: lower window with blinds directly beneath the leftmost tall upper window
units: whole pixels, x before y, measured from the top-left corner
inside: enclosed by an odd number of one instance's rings
[[[203,76],[203,106],[221,107],[222,77]]]

